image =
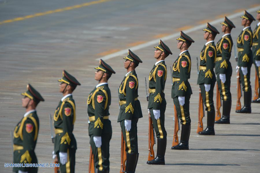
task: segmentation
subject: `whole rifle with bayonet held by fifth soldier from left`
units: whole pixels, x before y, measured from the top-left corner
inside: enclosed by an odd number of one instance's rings
[[[145,90],[146,90],[146,100],[149,101],[149,96],[147,92],[147,83],[146,83],[146,77],[144,76],[145,80]],[[154,127],[153,122],[151,119],[151,114],[148,110],[148,118],[149,118],[149,129],[148,129],[148,161],[154,159],[154,144],[155,144],[155,133],[154,133]]]

